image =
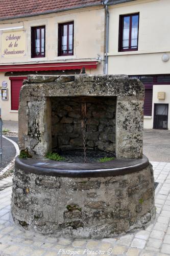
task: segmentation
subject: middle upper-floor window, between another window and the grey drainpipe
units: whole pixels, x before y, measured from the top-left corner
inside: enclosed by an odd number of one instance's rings
[[[58,56],[73,55],[74,22],[58,25]]]

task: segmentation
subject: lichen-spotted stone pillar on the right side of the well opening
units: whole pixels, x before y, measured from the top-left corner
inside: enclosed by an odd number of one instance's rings
[[[143,100],[117,97],[116,157],[139,159],[143,149]]]

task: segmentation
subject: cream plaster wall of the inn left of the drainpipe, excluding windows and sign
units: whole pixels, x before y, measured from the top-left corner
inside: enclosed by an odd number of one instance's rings
[[[74,55],[57,56],[58,53],[58,24],[74,21]],[[90,74],[103,73],[104,58],[104,30],[105,12],[103,7],[82,8],[72,11],[58,12],[49,15],[38,15],[13,19],[0,22],[0,29],[23,26],[22,30],[27,31],[27,55],[25,57],[2,58],[0,55],[0,65],[30,64],[30,63],[57,63],[57,62],[79,62],[95,61],[98,57],[102,61],[97,69],[86,70]],[[45,25],[45,57],[31,58],[31,27]],[[5,30],[8,32],[16,29]],[[18,29],[20,31],[20,29]],[[0,72],[0,87],[3,81],[8,82],[8,101],[0,99],[3,120],[18,120],[17,111],[11,111],[11,82],[9,77]]]

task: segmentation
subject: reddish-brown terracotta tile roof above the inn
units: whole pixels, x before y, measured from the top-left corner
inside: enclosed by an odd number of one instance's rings
[[[102,0],[0,0],[0,19],[53,13],[90,5],[100,5],[102,2]]]

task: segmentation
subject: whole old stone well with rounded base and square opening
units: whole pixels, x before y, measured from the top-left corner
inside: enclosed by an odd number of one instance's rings
[[[16,158],[14,221],[69,238],[147,225],[155,206],[153,170],[142,154],[143,98],[141,82],[126,75],[28,76],[19,147],[32,158]],[[51,151],[64,161],[46,159]],[[115,159],[100,162],[104,156]]]

